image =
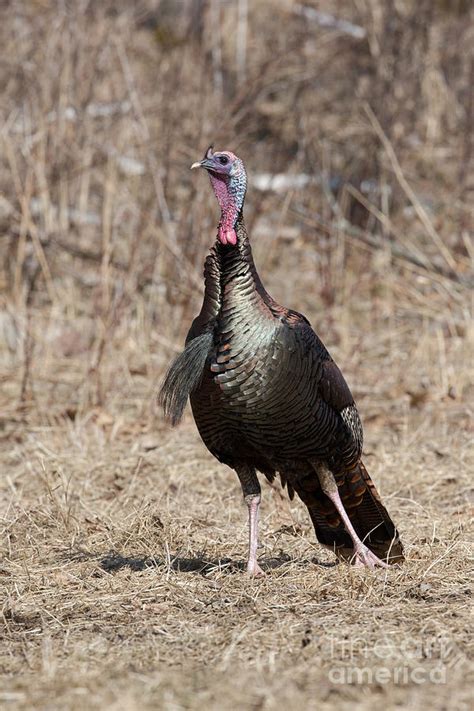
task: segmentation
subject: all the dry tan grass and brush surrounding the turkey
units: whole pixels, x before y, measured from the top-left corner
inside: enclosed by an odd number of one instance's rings
[[[0,9],[2,707],[469,707],[474,25],[462,0],[313,5],[366,39],[291,0]],[[255,258],[353,388],[400,569],[333,565],[265,486],[248,580],[236,476],[154,408],[211,140],[314,179],[251,185]]]

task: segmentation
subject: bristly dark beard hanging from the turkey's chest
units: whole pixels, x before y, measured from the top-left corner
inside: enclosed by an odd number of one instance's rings
[[[212,332],[206,331],[188,341],[184,351],[175,358],[166,373],[158,404],[173,427],[180,422],[189,395],[201,384],[212,340]]]

